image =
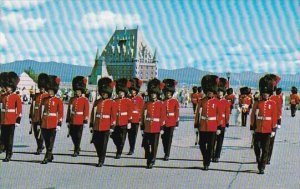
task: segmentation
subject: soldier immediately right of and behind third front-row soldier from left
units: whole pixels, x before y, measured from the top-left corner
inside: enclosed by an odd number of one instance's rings
[[[117,147],[116,159],[121,158],[126,140],[127,129],[131,128],[132,102],[126,97],[130,86],[130,81],[125,78],[118,79],[116,81],[116,92],[118,94],[118,98],[115,100],[117,107],[117,120],[116,127],[112,133],[112,139]]]

